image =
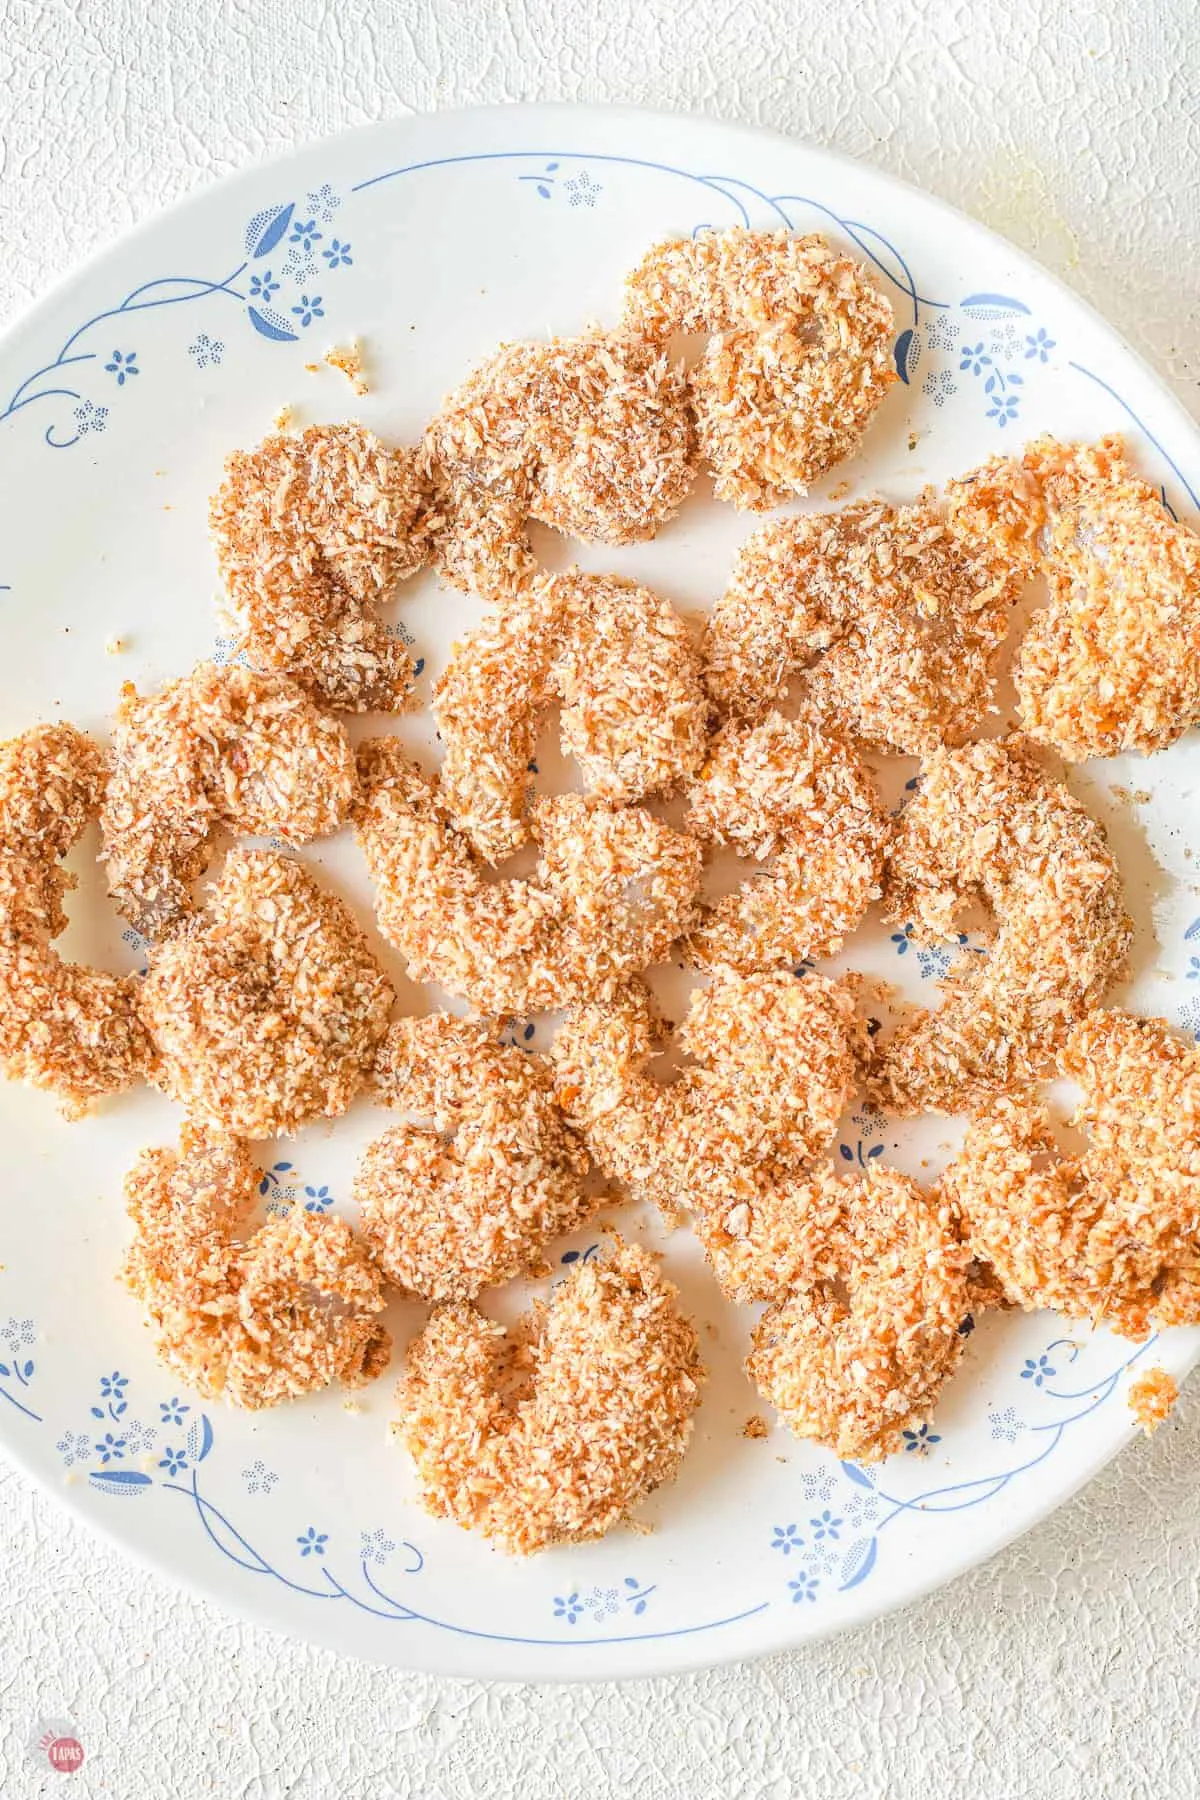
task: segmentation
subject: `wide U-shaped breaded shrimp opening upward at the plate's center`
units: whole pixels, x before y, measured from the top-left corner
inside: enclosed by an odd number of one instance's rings
[[[615,992],[691,923],[700,844],[637,806],[542,799],[534,880],[489,880],[396,738],[362,745],[358,769],[380,931],[414,981],[486,1013],[552,1010]]]

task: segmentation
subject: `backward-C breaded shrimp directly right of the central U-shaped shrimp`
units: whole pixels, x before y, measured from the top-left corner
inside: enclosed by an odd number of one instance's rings
[[[880,898],[891,819],[856,751],[811,720],[725,725],[689,796],[696,837],[770,864],[702,913],[703,967],[831,956]]]

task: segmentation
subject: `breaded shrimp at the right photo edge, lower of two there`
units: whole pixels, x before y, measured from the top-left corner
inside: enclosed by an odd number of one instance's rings
[[[972,1251],[1020,1307],[1128,1337],[1200,1323],[1200,1049],[1162,1019],[1094,1012],[1060,1067],[1090,1141],[1060,1156],[1027,1098],[973,1120],[943,1177]]]

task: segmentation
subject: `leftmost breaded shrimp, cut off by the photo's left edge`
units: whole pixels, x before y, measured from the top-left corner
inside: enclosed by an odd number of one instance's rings
[[[49,1087],[68,1116],[148,1073],[135,976],[65,963],[63,868],[101,810],[104,752],[74,725],[38,725],[0,745],[0,1060]]]

